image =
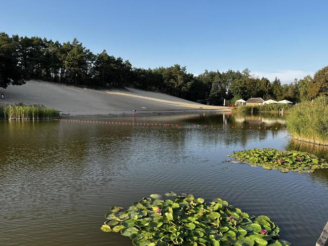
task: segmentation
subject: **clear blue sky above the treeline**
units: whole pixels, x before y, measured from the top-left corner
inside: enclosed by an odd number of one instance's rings
[[[248,68],[291,82],[328,65],[328,0],[0,0],[0,9],[9,35],[76,37],[134,67]]]

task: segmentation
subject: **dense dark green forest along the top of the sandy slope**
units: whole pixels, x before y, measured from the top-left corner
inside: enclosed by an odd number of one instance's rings
[[[328,95],[328,66],[315,76],[282,84],[279,79],[251,76],[250,71],[205,71],[194,76],[186,67],[143,69],[106,50],[93,54],[80,41],[47,40],[40,37],[9,37],[0,33],[0,87],[23,84],[28,80],[45,80],[102,88],[133,86],[164,92],[192,101],[209,99],[218,104],[222,99],[263,99],[299,102]]]

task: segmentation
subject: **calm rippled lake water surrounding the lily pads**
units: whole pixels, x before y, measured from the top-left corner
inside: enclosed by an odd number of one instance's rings
[[[167,191],[222,198],[270,216],[294,246],[315,245],[328,220],[328,170],[281,173],[222,163],[233,151],[255,147],[327,156],[327,149],[290,142],[283,118],[187,115],[134,122],[150,125],[0,122],[0,245],[127,246],[128,238],[99,229],[108,207]]]

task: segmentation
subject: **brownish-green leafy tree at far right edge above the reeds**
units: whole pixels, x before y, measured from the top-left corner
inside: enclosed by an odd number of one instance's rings
[[[308,98],[328,96],[328,66],[316,72],[309,88]]]

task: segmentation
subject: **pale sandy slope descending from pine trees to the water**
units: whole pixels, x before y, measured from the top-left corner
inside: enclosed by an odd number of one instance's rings
[[[224,107],[206,106],[164,93],[126,90],[94,90],[51,82],[29,81],[21,86],[9,85],[1,103],[43,104],[57,108],[71,116],[122,115],[171,112],[173,110],[224,110]],[[226,108],[225,108],[226,109]]]

